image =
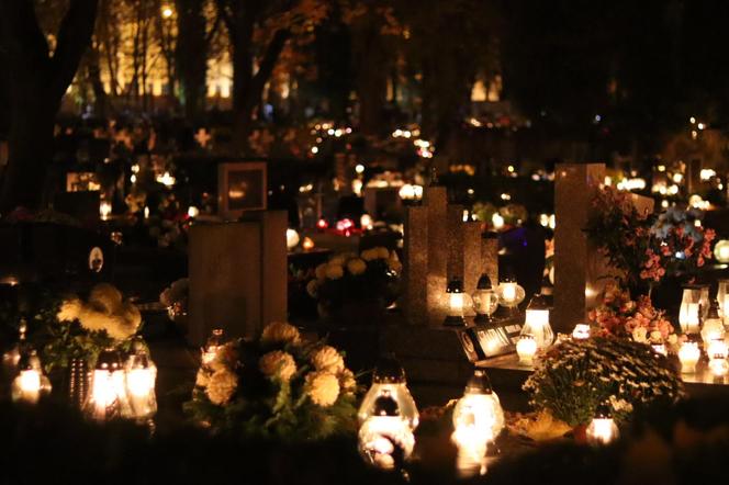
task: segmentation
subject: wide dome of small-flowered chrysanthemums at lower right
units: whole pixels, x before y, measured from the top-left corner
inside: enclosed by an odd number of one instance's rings
[[[673,404],[684,396],[665,357],[642,343],[605,337],[552,347],[524,390],[531,406],[573,427],[590,422],[603,403],[625,420],[638,406]]]

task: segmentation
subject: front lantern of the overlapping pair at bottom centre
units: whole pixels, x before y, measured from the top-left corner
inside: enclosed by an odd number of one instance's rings
[[[413,453],[415,436],[390,393],[384,392],[374,401],[371,416],[359,429],[358,442],[362,459],[382,470],[402,466],[399,456],[407,460]]]

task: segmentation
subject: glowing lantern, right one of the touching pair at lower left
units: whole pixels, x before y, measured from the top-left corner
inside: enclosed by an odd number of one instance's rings
[[[125,368],[131,417],[141,421],[147,420],[157,413],[157,366],[142,342],[134,343],[133,353]]]

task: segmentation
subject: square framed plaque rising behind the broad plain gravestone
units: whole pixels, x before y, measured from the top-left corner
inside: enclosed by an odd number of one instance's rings
[[[265,161],[223,162],[217,166],[217,212],[238,218],[247,211],[265,211],[268,180]]]

